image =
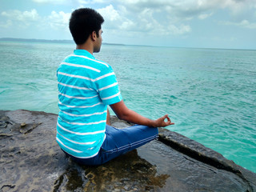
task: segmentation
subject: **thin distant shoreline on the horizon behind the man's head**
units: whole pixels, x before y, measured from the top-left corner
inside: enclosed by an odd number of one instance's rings
[[[47,40],[47,39],[37,39],[37,38],[0,38],[0,41],[4,42],[57,42],[57,43],[70,43],[74,44],[73,40]],[[117,43],[106,43],[104,45],[113,45],[113,46],[125,46],[124,44]]]

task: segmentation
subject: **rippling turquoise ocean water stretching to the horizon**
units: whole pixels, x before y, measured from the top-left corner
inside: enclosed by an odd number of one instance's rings
[[[58,114],[56,69],[74,44],[0,42],[0,110]],[[102,45],[126,106],[256,173],[256,50]],[[113,113],[113,112],[112,112]]]

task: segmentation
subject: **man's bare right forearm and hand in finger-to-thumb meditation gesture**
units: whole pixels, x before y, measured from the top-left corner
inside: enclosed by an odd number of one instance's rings
[[[128,107],[123,101],[114,103],[110,105],[110,107],[112,110],[114,110],[114,113],[118,116],[119,119],[122,119],[126,122],[133,122],[143,126],[154,126],[154,127],[165,127],[165,126],[174,125],[174,122],[170,121],[168,114],[156,120],[145,118],[142,115],[137,114],[133,110],[128,109]]]

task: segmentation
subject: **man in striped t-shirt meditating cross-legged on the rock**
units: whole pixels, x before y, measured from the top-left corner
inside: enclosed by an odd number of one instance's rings
[[[126,107],[111,66],[93,56],[102,46],[103,22],[95,10],[74,10],[70,32],[77,47],[57,70],[60,112],[56,140],[83,165],[108,162],[157,138],[157,127],[174,124],[167,114],[151,120]],[[118,118],[139,125],[122,130],[110,126],[107,106]]]

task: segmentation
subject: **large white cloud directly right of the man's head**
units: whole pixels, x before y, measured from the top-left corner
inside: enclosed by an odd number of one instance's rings
[[[133,6],[127,6],[128,3],[142,4],[149,1],[128,1],[125,5],[106,6],[99,9],[105,19],[104,27],[110,30],[119,30],[119,33],[146,34],[146,35],[170,35],[186,34],[191,31],[189,25],[175,23],[172,17],[166,17],[166,11],[161,12],[159,9],[151,7],[141,7],[138,13],[134,13]],[[158,2],[156,2],[158,3]],[[138,6],[137,6],[138,7]]]

